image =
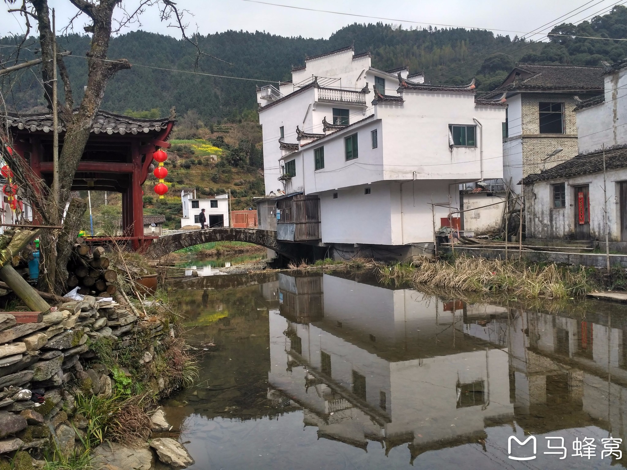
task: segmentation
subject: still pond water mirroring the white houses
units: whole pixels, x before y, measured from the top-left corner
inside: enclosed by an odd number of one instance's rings
[[[199,385],[165,404],[192,469],[627,463],[624,306],[473,304],[346,274],[174,287],[203,353]]]

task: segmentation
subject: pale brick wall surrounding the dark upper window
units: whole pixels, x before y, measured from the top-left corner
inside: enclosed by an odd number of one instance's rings
[[[540,102],[564,103],[564,130],[563,134],[540,134]],[[579,153],[577,145],[577,118],[574,112],[572,95],[556,95],[553,93],[523,93],[522,94],[522,174],[527,176],[539,173],[542,169],[549,169],[557,164],[572,159]],[[551,157],[543,165],[542,160],[547,158],[557,147],[562,152]]]

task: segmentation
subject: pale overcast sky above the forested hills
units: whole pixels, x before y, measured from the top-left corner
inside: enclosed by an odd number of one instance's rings
[[[304,36],[308,38],[328,38],[330,34],[346,24],[384,23],[426,27],[428,24],[465,26],[466,28],[492,29],[496,34],[523,34],[535,28],[549,25],[540,31],[549,31],[556,23],[578,22],[591,14],[601,14],[609,10],[616,0],[527,0],[526,2],[502,0],[268,0],[266,3],[297,6],[340,13],[374,15],[372,18],[359,18],[343,14],[322,13],[302,9],[253,3],[247,0],[177,0],[181,9],[186,9],[185,21],[189,30],[198,29],[201,34],[210,34],[228,29],[244,31],[266,31],[281,36]],[[48,0],[56,9],[56,24],[60,32],[68,19],[76,13],[68,0]],[[124,1],[127,10],[137,8],[139,0]],[[15,13],[7,13],[4,2],[0,2],[0,34],[23,33],[23,19]],[[578,8],[580,7],[580,8]],[[571,10],[573,13],[567,14]],[[564,15],[564,18],[560,18]],[[572,18],[566,18],[567,16]],[[120,17],[120,15],[118,15]],[[389,19],[377,19],[384,17]],[[558,19],[559,18],[559,19]],[[556,21],[557,20],[557,21]],[[412,23],[420,22],[420,23]],[[76,21],[75,31],[82,32],[84,18]],[[154,33],[180,36],[169,23],[162,23],[155,8],[149,8],[140,17],[140,23],[131,24],[122,33],[135,29]],[[528,36],[529,37],[529,36]],[[540,36],[534,36],[540,38]]]

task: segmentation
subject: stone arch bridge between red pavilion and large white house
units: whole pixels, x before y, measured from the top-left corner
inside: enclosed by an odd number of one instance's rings
[[[277,240],[277,232],[260,229],[233,227],[193,230],[164,235],[154,240],[145,251],[149,258],[161,258],[166,254],[189,246],[213,241],[244,241],[270,248],[288,259],[317,259],[324,256],[326,248],[303,243],[285,243]]]

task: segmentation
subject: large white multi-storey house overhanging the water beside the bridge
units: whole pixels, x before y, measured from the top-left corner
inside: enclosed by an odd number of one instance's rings
[[[377,70],[352,47],[309,57],[292,76],[257,94],[266,194],[286,193],[279,239],[335,256],[433,253],[435,229],[459,217],[458,185],[503,175],[505,107],[476,101],[473,83]]]

